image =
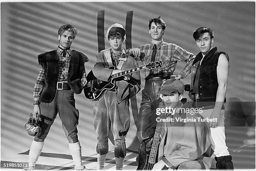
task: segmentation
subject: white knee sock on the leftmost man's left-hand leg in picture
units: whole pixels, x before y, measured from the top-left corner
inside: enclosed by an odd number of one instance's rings
[[[28,155],[28,166],[31,166],[31,167],[36,166],[36,161],[40,156],[43,147],[44,147],[44,142],[37,142],[33,140],[30,146],[29,155]]]

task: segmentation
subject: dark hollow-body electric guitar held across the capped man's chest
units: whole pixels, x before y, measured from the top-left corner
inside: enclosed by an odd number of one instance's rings
[[[114,74],[111,77],[110,81],[108,82],[97,79],[93,75],[92,71],[90,71],[86,77],[87,84],[86,84],[86,87],[84,88],[84,95],[89,100],[95,100],[95,101],[99,100],[100,97],[102,97],[102,95],[104,94],[105,90],[113,91],[116,89],[117,86],[115,85],[115,80],[118,77],[122,77],[124,75],[131,74],[133,72],[137,72],[143,69],[159,69],[162,67],[163,67],[162,61],[151,62],[147,65],[139,66],[137,68],[128,69],[126,71]],[[110,66],[109,69],[116,69],[116,67]]]

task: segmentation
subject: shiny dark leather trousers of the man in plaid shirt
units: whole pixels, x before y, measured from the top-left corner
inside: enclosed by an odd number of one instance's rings
[[[141,107],[138,115],[137,138],[140,143],[154,135],[156,130],[156,108],[159,107],[157,91],[159,90],[163,79],[151,78],[145,82],[142,90]]]

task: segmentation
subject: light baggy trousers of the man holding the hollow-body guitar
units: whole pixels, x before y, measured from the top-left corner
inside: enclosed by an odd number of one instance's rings
[[[108,136],[110,128],[115,140],[115,157],[126,156],[125,136],[130,128],[129,100],[125,98],[119,104],[115,92],[107,91],[93,108],[93,125],[97,133],[97,153],[108,153]]]

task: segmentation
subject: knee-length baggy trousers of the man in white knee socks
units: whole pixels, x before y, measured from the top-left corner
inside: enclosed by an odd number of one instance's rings
[[[77,143],[77,124],[79,118],[79,111],[75,107],[75,99],[73,90],[56,90],[54,100],[50,103],[40,103],[42,122],[40,127],[42,133],[34,140],[43,142],[46,138],[54,119],[59,113],[62,127],[69,143]]]

